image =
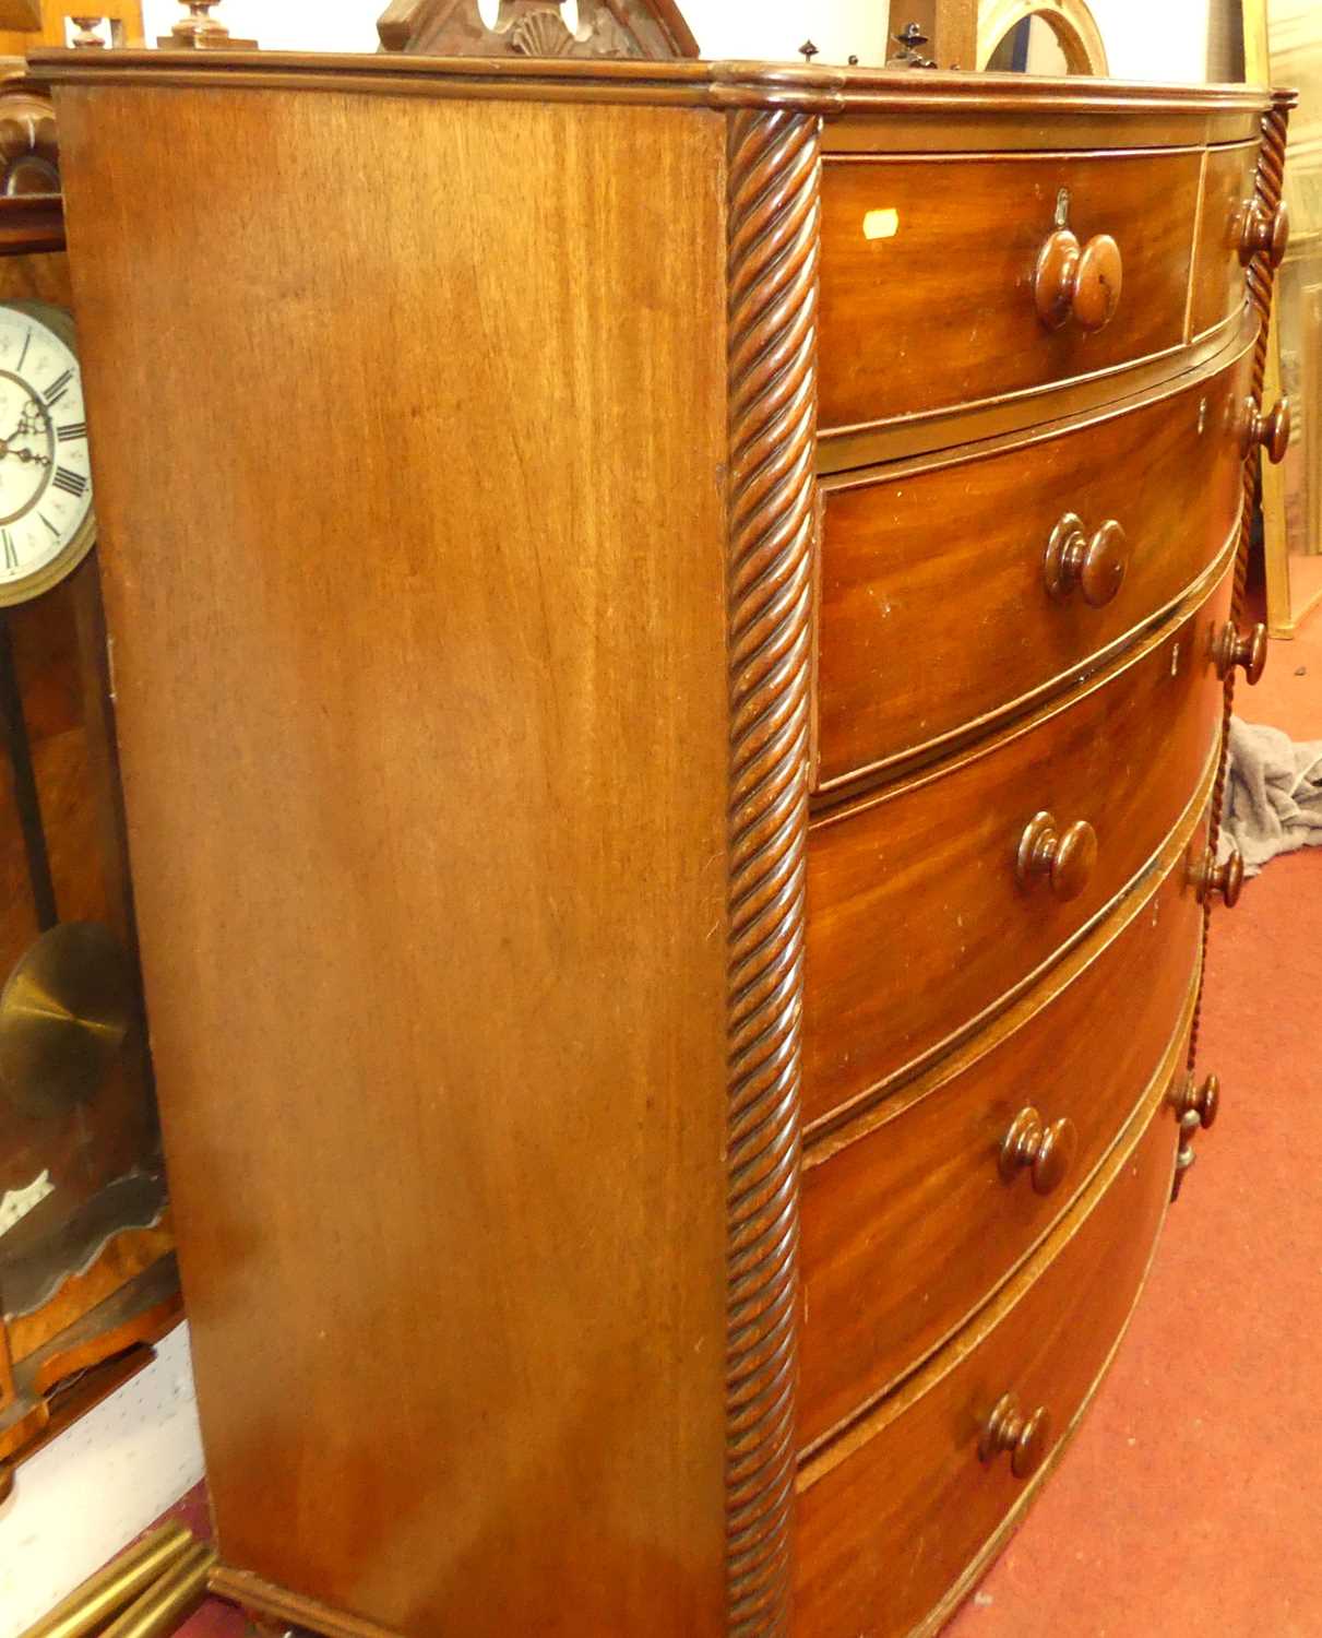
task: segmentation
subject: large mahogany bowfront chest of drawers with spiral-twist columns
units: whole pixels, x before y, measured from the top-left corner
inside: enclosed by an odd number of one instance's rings
[[[1216,1114],[1289,98],[44,72],[218,1586],[935,1630]]]

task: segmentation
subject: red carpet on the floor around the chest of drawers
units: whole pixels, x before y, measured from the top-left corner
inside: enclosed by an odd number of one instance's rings
[[[1322,613],[1237,703],[1322,739]],[[1202,1061],[1220,1117],[1088,1420],[947,1638],[1322,1635],[1320,1012],[1314,848],[1217,917]],[[213,1599],[185,1633],[242,1628]]]

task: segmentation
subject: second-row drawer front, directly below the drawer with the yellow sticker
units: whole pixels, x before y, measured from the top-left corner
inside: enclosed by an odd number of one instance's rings
[[[1186,591],[1238,523],[1250,372],[1243,352],[1058,437],[827,488],[817,783],[1024,708]]]

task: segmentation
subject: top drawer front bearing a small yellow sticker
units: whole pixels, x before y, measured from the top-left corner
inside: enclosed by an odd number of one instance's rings
[[[1179,346],[1201,164],[1189,151],[829,159],[821,426],[980,403]],[[1063,193],[1068,231],[1093,249],[1078,270],[1086,288],[1048,328],[1037,269]],[[1121,293],[1089,329],[1114,285],[1096,249],[1102,236],[1119,251]],[[1060,257],[1050,260],[1058,270]]]

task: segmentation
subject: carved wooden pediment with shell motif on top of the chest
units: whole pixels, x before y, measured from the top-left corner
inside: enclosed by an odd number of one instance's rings
[[[578,0],[570,33],[559,0],[500,0],[495,28],[477,0],[390,0],[377,21],[385,51],[436,57],[696,57],[675,0]]]

